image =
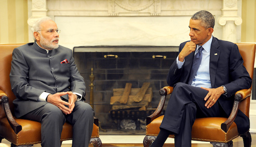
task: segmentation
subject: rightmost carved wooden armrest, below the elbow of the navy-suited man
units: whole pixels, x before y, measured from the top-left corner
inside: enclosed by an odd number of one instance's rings
[[[244,100],[248,96],[251,96],[251,89],[242,89],[242,90],[239,90],[238,92],[236,92],[235,101],[234,101],[230,116],[228,117],[228,119],[225,122],[223,122],[221,124],[221,129],[224,130],[226,133],[228,131],[228,128],[231,126],[231,124],[234,122],[234,120],[236,118],[240,101]]]

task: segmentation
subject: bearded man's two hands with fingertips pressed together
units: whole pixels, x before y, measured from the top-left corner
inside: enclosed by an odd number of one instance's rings
[[[61,96],[68,94],[69,96],[69,102],[67,103],[66,101],[61,100]],[[53,95],[48,95],[47,98],[47,102],[54,104],[55,106],[57,106],[58,108],[60,108],[60,110],[64,113],[64,114],[71,114],[71,112],[73,111],[74,107],[75,107],[75,102],[77,101],[77,95],[75,95],[73,92],[71,91],[67,91],[67,92],[57,92]],[[64,105],[67,105],[69,107],[66,107]]]

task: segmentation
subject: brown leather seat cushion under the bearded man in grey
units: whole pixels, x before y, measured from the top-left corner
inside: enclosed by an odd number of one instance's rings
[[[15,145],[41,143],[40,122],[17,119],[15,121],[22,126],[22,130],[16,135],[6,118],[0,119],[0,134]],[[99,137],[99,127],[94,124],[92,138]],[[65,123],[61,133],[61,141],[72,139],[72,125]]]

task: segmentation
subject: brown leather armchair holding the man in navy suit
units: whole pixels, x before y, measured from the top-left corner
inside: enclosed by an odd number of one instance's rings
[[[256,44],[241,44],[238,43],[239,52],[244,59],[244,66],[247,69],[250,77],[253,78],[253,68],[255,60],[255,48]],[[161,95],[160,102],[155,112],[147,117],[146,122],[146,136],[143,141],[144,147],[149,147],[152,141],[155,140],[160,129],[159,126],[162,122],[164,115],[160,116],[160,113],[164,107],[166,95],[172,93],[173,87],[166,86],[160,89]],[[244,146],[251,146],[251,135],[248,132],[239,134],[236,123],[233,122],[238,109],[240,109],[245,115],[249,117],[251,88],[242,89],[236,92],[233,109],[228,118],[197,118],[192,126],[192,140],[207,141],[213,144],[214,147],[232,147],[232,139],[242,136],[244,140]],[[169,103],[172,103],[171,101]],[[174,138],[174,135],[170,135],[170,138]]]

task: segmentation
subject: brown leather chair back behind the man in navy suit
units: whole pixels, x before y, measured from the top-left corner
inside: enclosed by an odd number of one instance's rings
[[[255,60],[255,49],[256,44],[248,43],[236,43],[238,45],[239,52],[244,60],[244,66],[247,69],[251,79],[253,79],[254,60]],[[251,89],[251,88],[250,88]],[[245,100],[241,101],[239,109],[249,117],[250,109],[250,96]]]

